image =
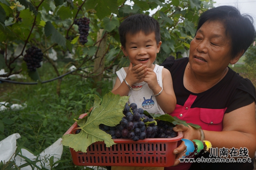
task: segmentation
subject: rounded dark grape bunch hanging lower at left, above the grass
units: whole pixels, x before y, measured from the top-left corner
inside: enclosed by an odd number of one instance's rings
[[[28,70],[36,71],[36,68],[41,67],[40,62],[43,60],[42,50],[35,46],[28,48],[23,60],[27,63]]]

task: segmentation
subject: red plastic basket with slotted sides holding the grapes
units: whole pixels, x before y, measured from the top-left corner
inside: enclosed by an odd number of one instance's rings
[[[80,115],[80,118],[86,114]],[[65,134],[74,134],[75,122]],[[64,135],[65,135],[64,134]],[[152,166],[169,167],[174,164],[172,153],[181,140],[182,132],[175,138],[114,139],[116,145],[106,147],[104,142],[95,142],[87,152],[75,152],[70,148],[72,160],[77,166]]]

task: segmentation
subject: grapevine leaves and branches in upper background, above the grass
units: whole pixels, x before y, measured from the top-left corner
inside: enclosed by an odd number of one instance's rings
[[[213,7],[212,3],[212,0],[0,0],[0,69],[6,72],[0,77],[28,74],[32,80],[41,81],[37,71],[28,71],[22,60],[26,49],[37,46],[44,53],[43,62],[52,64],[56,76],[65,74],[73,65],[82,71],[72,74],[92,78],[100,92],[103,78],[112,78],[115,70],[128,66],[118,36],[122,20],[138,13],[150,14],[158,20],[162,46],[156,62],[161,63],[167,56],[180,57],[189,49],[196,21],[203,11]],[[88,42],[82,45],[74,19],[84,16],[90,18],[90,30]],[[53,51],[58,60],[65,60],[65,66],[60,68],[52,60]],[[58,79],[58,94],[61,81]]]

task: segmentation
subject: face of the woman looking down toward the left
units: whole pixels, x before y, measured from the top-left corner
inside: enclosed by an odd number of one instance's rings
[[[203,76],[223,74],[231,59],[231,39],[220,21],[206,21],[190,43],[192,71]]]

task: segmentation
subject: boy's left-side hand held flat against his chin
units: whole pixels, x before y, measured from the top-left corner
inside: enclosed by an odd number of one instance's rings
[[[133,67],[132,63],[130,62],[130,66],[128,68],[127,75],[126,75],[125,79],[128,82],[128,84],[130,86],[132,86],[135,83],[137,83],[138,81],[140,81],[140,79],[142,79],[146,76],[147,70],[148,70],[148,68],[146,68],[146,65],[138,64]]]

